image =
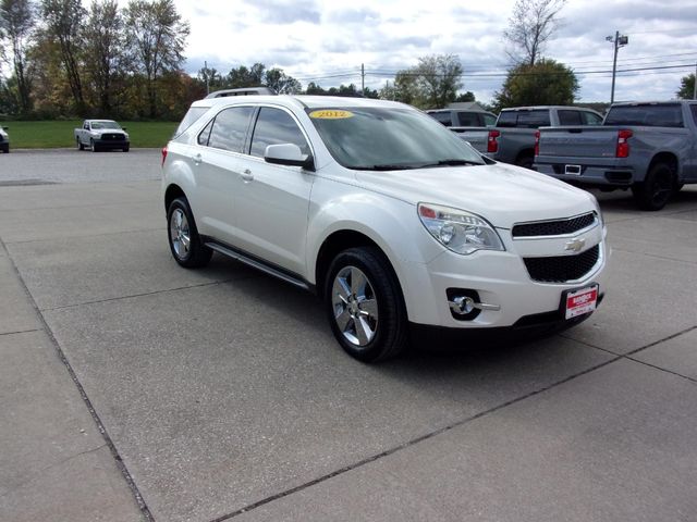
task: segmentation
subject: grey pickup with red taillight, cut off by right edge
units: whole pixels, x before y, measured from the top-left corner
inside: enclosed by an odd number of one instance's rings
[[[540,128],[534,169],[573,185],[631,188],[660,210],[697,183],[697,102],[615,103],[601,126]]]

